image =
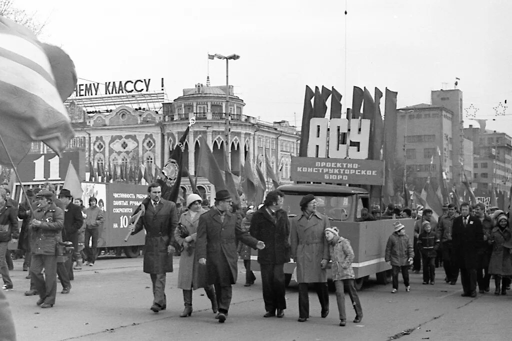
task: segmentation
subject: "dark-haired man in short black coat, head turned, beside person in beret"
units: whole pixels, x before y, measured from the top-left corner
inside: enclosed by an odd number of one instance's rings
[[[254,212],[249,230],[251,236],[265,243],[258,251],[267,311],[264,317],[283,317],[286,309],[284,263],[290,261],[290,223],[282,209],[283,198],[281,191],[268,192],[263,207]]]

